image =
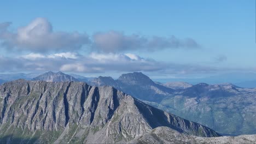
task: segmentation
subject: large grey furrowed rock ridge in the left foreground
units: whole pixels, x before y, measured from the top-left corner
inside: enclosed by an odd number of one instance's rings
[[[157,127],[220,136],[109,86],[26,80],[0,86],[1,143],[124,143]]]

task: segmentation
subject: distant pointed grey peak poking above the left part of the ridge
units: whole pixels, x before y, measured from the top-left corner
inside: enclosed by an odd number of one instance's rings
[[[63,82],[63,81],[79,81],[71,75],[62,73],[61,71],[54,73],[49,71],[32,79],[33,81]]]

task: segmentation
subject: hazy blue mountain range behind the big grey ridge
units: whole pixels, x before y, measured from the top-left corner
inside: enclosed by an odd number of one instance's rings
[[[52,72],[51,72],[52,73]],[[64,76],[63,76],[64,75]],[[48,77],[45,73],[39,77]],[[52,75],[53,81],[79,81],[78,75]],[[66,77],[66,79],[63,79]],[[86,77],[80,77],[86,79]],[[48,81],[49,79],[38,79]],[[231,83],[191,85],[186,82],[154,82],[142,73],[86,80],[92,86],[112,86],[146,104],[201,123],[221,134],[256,134],[256,88],[241,88]]]

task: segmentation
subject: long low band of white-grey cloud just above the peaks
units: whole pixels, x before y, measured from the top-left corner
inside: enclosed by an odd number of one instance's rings
[[[0,56],[0,73],[20,71],[65,71],[76,73],[106,73],[148,71],[159,74],[203,74],[221,69],[193,64],[175,64],[142,58],[133,53],[90,53],[88,56],[75,52],[50,55],[29,53],[19,57]],[[227,70],[227,69],[225,69]]]

